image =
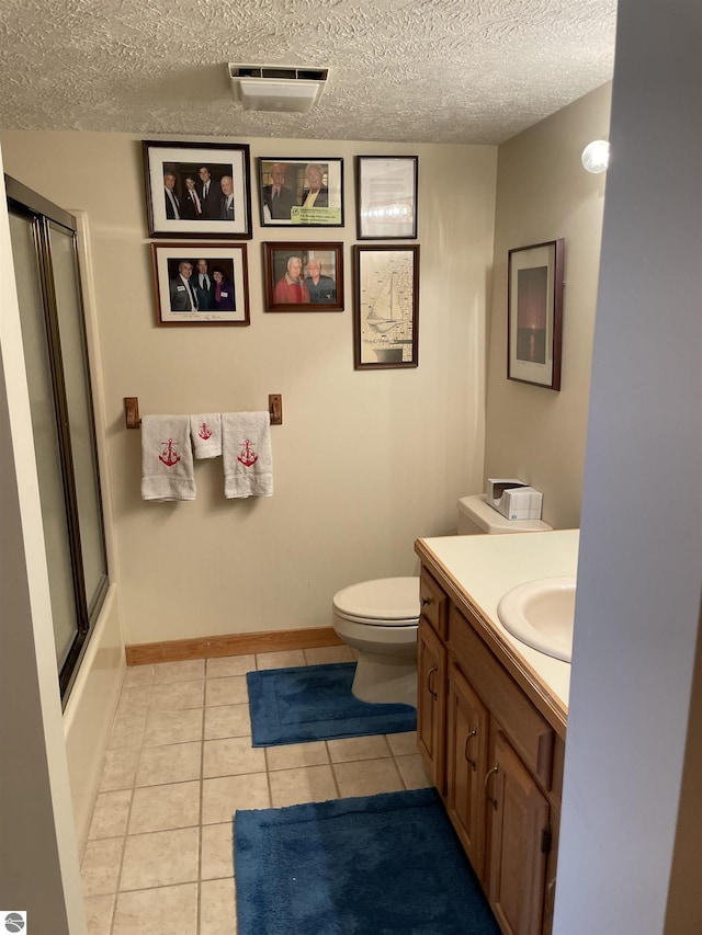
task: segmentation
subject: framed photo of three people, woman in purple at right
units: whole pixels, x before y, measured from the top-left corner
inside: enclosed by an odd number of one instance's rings
[[[249,324],[246,243],[151,243],[157,324]]]

